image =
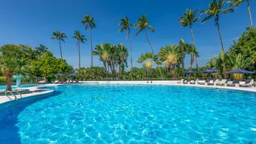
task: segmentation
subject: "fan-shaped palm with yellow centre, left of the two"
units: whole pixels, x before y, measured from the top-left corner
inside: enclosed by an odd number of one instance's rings
[[[146,67],[146,77],[148,80],[148,69],[152,67],[152,62],[155,62],[156,64],[159,64],[160,61],[157,57],[157,55],[153,54],[153,52],[146,52],[145,54],[141,54],[141,57],[137,61],[138,63],[144,62],[144,66]]]

